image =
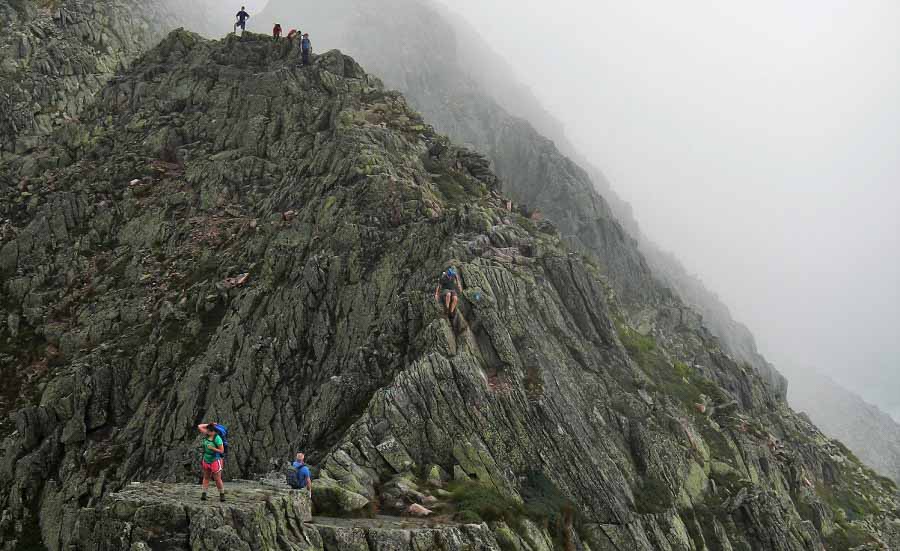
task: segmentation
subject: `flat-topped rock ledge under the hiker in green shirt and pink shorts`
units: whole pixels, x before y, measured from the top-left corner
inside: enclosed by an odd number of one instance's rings
[[[358,550],[494,548],[484,526],[378,516],[311,514],[306,492],[248,481],[228,484],[227,501],[202,502],[193,484],[131,483],[81,512],[79,548],[104,550]],[[369,542],[377,542],[370,544]]]

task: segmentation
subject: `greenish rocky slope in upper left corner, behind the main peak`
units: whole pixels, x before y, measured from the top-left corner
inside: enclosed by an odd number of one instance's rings
[[[175,0],[0,1],[0,158],[77,120],[117,72],[210,6]],[[210,29],[211,30],[211,29]]]

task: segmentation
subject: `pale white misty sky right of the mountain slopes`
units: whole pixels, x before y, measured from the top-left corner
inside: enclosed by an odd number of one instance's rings
[[[782,371],[900,419],[900,2],[443,1]]]

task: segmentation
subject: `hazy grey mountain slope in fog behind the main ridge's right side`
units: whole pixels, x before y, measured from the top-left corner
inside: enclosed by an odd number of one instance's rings
[[[388,85],[403,91],[441,132],[487,155],[505,193],[539,209],[570,245],[602,259],[625,314],[642,332],[674,332],[665,316],[658,315],[663,310],[682,310],[681,317],[694,318],[694,323],[700,322],[699,313],[709,315],[709,326],[724,349],[758,369],[785,395],[784,377],[756,353],[752,338],[748,346],[744,335],[737,336],[738,324],[720,323],[722,310],[730,321],[727,309],[709,300],[692,300],[706,299],[708,292],[688,292],[696,286],[690,285],[686,272],[673,269],[680,265],[642,236],[630,207],[613,193],[603,174],[579,159],[527,91],[509,84],[499,87],[495,78],[486,76],[510,73],[496,66],[496,57],[475,47],[481,42],[454,28],[455,19],[444,10],[413,0],[377,5],[337,0],[300,10],[293,2],[272,0],[257,24],[274,20],[300,21],[321,43],[341,44]],[[491,60],[493,71],[487,67]],[[509,110],[529,120],[511,116]],[[536,131],[531,119],[553,141]]]

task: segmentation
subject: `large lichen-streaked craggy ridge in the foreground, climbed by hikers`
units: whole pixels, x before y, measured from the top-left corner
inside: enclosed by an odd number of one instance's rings
[[[338,51],[177,30],[126,57],[0,162],[3,549],[900,546],[893,483],[727,354],[524,121],[490,138],[538,148],[516,182]],[[224,505],[194,485],[209,420]],[[312,511],[269,476],[297,449]]]

